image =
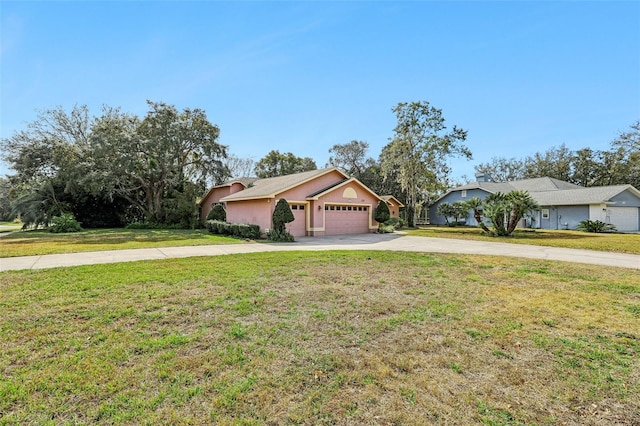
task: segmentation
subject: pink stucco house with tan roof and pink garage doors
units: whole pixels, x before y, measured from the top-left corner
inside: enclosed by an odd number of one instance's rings
[[[221,203],[227,222],[270,229],[276,203],[284,198],[295,220],[287,224],[294,236],[323,236],[375,232],[374,210],[380,200],[398,217],[403,207],[393,196],[381,197],[337,168],[312,170],[266,179],[237,179],[214,186],[200,202],[201,217]]]

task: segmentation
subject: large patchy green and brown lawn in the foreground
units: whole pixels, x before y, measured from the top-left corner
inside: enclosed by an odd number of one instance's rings
[[[640,424],[636,271],[259,253],[0,293],[0,424]]]

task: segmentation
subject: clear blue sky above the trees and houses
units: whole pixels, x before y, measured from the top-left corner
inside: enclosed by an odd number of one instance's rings
[[[638,1],[7,1],[0,137],[37,110],[201,108],[240,157],[312,157],[430,102],[474,159],[607,149],[640,119]],[[0,174],[10,173],[0,165]]]

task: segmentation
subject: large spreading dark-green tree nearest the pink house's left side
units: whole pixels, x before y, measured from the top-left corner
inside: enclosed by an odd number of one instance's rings
[[[227,148],[217,142],[220,130],[204,111],[148,105],[142,120],[118,109],[106,109],[96,120],[90,139],[94,164],[85,182],[94,191],[126,198],[145,220],[167,223],[165,199],[182,193],[188,183],[201,192],[205,182],[219,184],[229,177],[222,162]],[[190,205],[191,217],[195,199]]]

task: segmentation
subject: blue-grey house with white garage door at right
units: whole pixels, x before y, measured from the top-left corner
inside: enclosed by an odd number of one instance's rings
[[[549,177],[511,182],[488,182],[478,174],[477,182],[450,189],[429,207],[431,224],[445,223],[436,214],[438,205],[465,201],[472,197],[485,199],[489,194],[507,194],[515,190],[528,191],[540,205],[540,210],[525,218],[524,225],[541,229],[576,229],[585,219],[600,220],[615,225],[618,231],[640,231],[640,191],[631,185],[594,186],[585,188]],[[477,225],[473,215],[467,225]]]

